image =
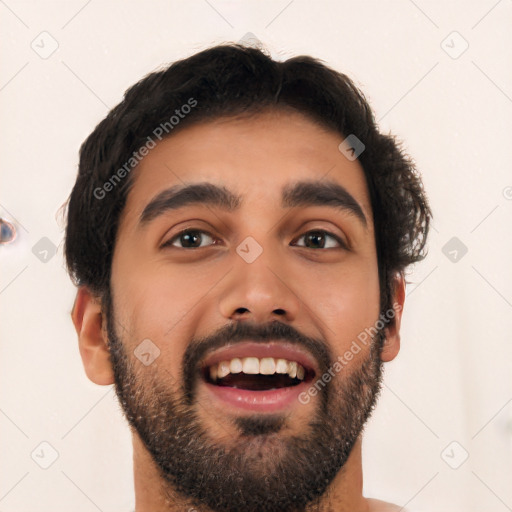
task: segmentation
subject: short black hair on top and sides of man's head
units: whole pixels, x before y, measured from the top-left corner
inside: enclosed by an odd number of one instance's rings
[[[412,159],[394,136],[379,132],[368,101],[346,75],[310,56],[281,62],[239,44],[208,48],[145,76],[84,141],[67,203],[65,258],[74,283],[110,297],[130,170],[150,141],[208,119],[280,109],[364,144],[358,159],[373,210],[380,305],[389,309],[395,274],[426,256],[432,217]]]

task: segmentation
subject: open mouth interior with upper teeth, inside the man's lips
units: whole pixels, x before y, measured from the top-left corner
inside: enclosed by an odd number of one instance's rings
[[[203,377],[216,386],[268,391],[312,380],[314,371],[283,358],[235,357],[204,367]]]

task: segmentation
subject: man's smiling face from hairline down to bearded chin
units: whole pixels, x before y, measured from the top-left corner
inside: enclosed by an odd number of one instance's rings
[[[108,334],[116,391],[169,496],[302,510],[361,433],[384,332],[351,349],[379,318],[379,280],[364,173],[342,140],[299,114],[216,120],[172,135],[134,171]],[[353,203],[293,203],[302,181],[339,185]],[[205,182],[237,207],[154,201]]]

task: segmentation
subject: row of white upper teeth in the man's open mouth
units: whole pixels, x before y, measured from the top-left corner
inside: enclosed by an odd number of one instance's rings
[[[222,379],[229,373],[246,373],[274,375],[275,373],[288,374],[292,379],[304,380],[306,373],[304,367],[296,361],[287,359],[275,359],[273,357],[244,357],[242,359],[235,357],[229,361],[220,361],[210,366],[210,378],[215,381]]]

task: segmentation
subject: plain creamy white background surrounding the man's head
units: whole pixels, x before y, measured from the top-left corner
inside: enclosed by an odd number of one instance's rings
[[[133,508],[128,427],[79,356],[58,210],[80,144],[130,85],[248,32],[275,57],[309,54],[353,78],[432,204],[402,350],[365,436],[365,495],[512,510],[512,1],[5,0],[0,20],[0,215],[18,228],[0,247],[2,512]],[[53,39],[46,59],[31,47]],[[32,251],[43,237],[57,247],[46,262]],[[467,247],[455,262],[453,237]],[[34,459],[52,450],[42,469]]]

